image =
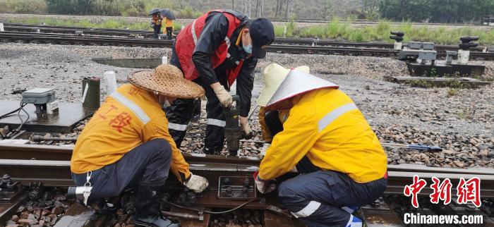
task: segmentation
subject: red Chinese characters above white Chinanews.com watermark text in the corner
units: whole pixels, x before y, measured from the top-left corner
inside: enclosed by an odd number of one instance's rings
[[[436,177],[432,177],[433,183],[430,185],[430,189],[433,190],[430,193],[430,202],[433,204],[450,204],[452,202],[451,188],[452,182],[449,178],[439,180]],[[414,176],[414,181],[411,185],[406,185],[403,194],[407,197],[411,197],[411,205],[415,208],[419,207],[418,193],[427,185],[426,180],[420,179],[418,176]],[[481,207],[481,179],[474,177],[469,180],[460,178],[456,187],[456,204],[473,204],[475,207]],[[405,224],[483,224],[482,215],[438,215],[438,214],[419,214],[419,213],[405,213],[403,215],[403,221]]]

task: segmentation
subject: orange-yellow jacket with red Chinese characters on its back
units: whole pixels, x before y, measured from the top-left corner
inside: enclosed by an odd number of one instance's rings
[[[71,171],[86,173],[113,164],[134,147],[157,138],[171,145],[171,171],[179,180],[188,178],[188,164],[168,132],[167,117],[155,95],[122,85],[107,97],[78,137]]]

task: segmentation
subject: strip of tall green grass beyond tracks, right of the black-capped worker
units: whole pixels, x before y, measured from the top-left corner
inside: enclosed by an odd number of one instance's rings
[[[284,25],[275,27],[275,35],[282,37]],[[289,26],[287,26],[289,27]],[[480,44],[494,44],[494,30],[483,30],[472,27],[427,27],[415,26],[413,23],[404,22],[392,25],[386,20],[380,20],[377,25],[352,26],[350,23],[341,23],[335,18],[326,25],[309,27],[291,27],[287,37],[315,37],[320,39],[342,39],[352,42],[394,42],[390,39],[390,31],[405,33],[403,42],[435,42],[435,44],[458,44],[459,37],[476,35],[480,37]]]

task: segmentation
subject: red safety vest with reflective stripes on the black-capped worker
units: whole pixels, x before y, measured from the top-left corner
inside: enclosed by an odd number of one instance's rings
[[[227,17],[228,20],[228,32],[227,37],[224,37],[224,41],[219,45],[218,49],[216,49],[215,54],[211,57],[211,63],[213,68],[217,68],[224,60],[229,57],[228,49],[230,47],[230,37],[242,24],[242,20],[234,16],[234,14],[229,13],[228,11],[215,10],[209,11],[205,13],[203,16],[195,19],[191,24],[187,25],[183,31],[179,33],[176,37],[175,51],[176,55],[179,58],[180,65],[183,70],[183,75],[187,80],[195,80],[199,77],[198,70],[195,69],[195,65],[192,61],[192,54],[195,49],[195,44],[197,43],[201,32],[203,31],[203,27],[205,24],[205,20],[207,16],[212,12],[220,12],[223,13],[224,16]],[[236,40],[236,37],[231,37],[232,40]],[[242,68],[243,60],[239,61],[238,65],[235,68],[231,68],[227,71],[228,75],[228,84],[231,86],[236,76],[239,75],[240,69]]]

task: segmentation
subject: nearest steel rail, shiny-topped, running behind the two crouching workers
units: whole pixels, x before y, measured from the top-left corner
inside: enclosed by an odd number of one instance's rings
[[[245,176],[250,178],[253,172],[257,171],[257,166],[241,164],[210,164],[190,163],[190,169],[194,173],[205,176],[210,180],[211,190],[215,190],[218,176]],[[0,159],[0,173],[7,173],[12,180],[23,184],[30,182],[42,182],[47,186],[71,186],[70,161],[50,161],[50,160],[18,160]],[[293,173],[289,173],[292,174]],[[413,177],[419,176],[421,179],[432,183],[431,178],[448,178],[453,185],[457,185],[460,178],[469,179],[477,177],[481,179],[481,197],[494,198],[494,175],[465,174],[465,173],[434,173],[434,172],[412,172],[412,171],[388,171],[387,194],[402,194],[405,185],[413,183]],[[170,178],[173,182],[176,180]],[[176,184],[176,183],[175,183]],[[421,191],[421,195],[430,195],[430,188],[426,187]],[[456,193],[456,188],[452,188]],[[455,195],[455,194],[454,194]]]

